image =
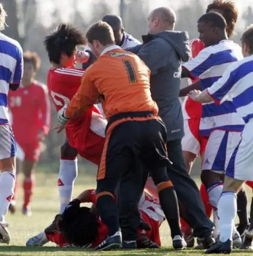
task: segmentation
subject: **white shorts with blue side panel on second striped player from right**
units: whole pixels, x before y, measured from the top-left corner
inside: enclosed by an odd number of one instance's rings
[[[241,132],[215,130],[210,133],[202,170],[225,173],[229,160],[241,140]]]

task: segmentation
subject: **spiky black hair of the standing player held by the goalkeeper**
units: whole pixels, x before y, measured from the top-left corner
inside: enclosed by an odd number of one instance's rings
[[[77,45],[86,45],[86,43],[85,35],[69,23],[60,23],[44,40],[49,60],[56,64],[60,64],[62,53],[70,57]]]

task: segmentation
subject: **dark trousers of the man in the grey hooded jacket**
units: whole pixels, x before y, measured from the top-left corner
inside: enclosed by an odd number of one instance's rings
[[[213,223],[205,214],[198,187],[187,172],[183,157],[181,140],[167,142],[168,158],[173,164],[167,167],[167,173],[176,190],[178,200],[184,206],[187,221],[193,228],[195,237],[211,235]]]

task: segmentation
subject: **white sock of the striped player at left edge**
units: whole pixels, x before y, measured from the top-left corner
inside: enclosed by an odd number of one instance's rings
[[[14,195],[15,174],[3,171],[0,176],[0,222],[4,222],[12,196]]]

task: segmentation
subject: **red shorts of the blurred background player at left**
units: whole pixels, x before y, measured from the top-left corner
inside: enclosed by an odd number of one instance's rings
[[[39,141],[35,142],[18,142],[19,146],[24,152],[24,160],[38,162],[41,153],[41,143]]]

